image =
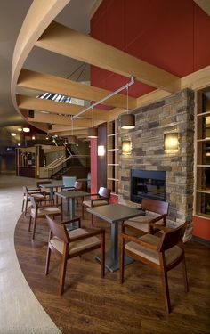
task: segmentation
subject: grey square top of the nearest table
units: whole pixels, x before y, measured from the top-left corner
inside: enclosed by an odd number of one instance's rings
[[[87,208],[91,214],[113,224],[135,216],[142,216],[142,211],[122,204],[108,204],[101,207]]]

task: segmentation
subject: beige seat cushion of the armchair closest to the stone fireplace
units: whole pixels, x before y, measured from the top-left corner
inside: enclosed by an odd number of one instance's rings
[[[137,216],[137,217],[125,220],[124,225],[128,227],[131,226],[135,228],[136,230],[141,230],[141,231],[148,233],[149,232],[149,222],[156,217],[158,217],[158,215],[157,216],[154,216],[154,215]],[[163,219],[156,222],[156,224],[163,225],[164,224]]]

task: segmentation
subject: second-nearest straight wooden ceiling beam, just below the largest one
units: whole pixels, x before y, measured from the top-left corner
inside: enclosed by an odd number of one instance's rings
[[[18,86],[36,89],[42,92],[67,95],[89,101],[100,101],[103,97],[111,93],[106,89],[87,86],[69,79],[34,72],[28,69],[21,70]],[[123,94],[116,94],[104,102],[104,104],[118,108],[126,108],[126,96]],[[129,97],[128,105],[131,109],[135,108],[136,99]]]

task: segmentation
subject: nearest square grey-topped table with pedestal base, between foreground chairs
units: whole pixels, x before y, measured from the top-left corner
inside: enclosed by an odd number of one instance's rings
[[[111,225],[111,245],[105,255],[105,265],[110,272],[119,269],[118,255],[118,224],[135,216],[142,216],[141,209],[130,208],[122,204],[109,204],[101,207],[87,208],[87,211]],[[100,257],[96,257],[100,261]],[[133,262],[130,257],[125,257],[125,265]]]

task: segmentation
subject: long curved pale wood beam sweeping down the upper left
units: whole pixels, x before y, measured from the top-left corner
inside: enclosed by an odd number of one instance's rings
[[[13,105],[18,112],[20,112],[20,110],[16,102],[15,92],[23,63],[36,44],[37,39],[43,34],[46,27],[48,27],[59,12],[69,4],[69,1],[70,0],[34,0],[29,8],[28,14],[20,29],[12,58],[11,94]],[[21,112],[20,115],[22,115]]]

